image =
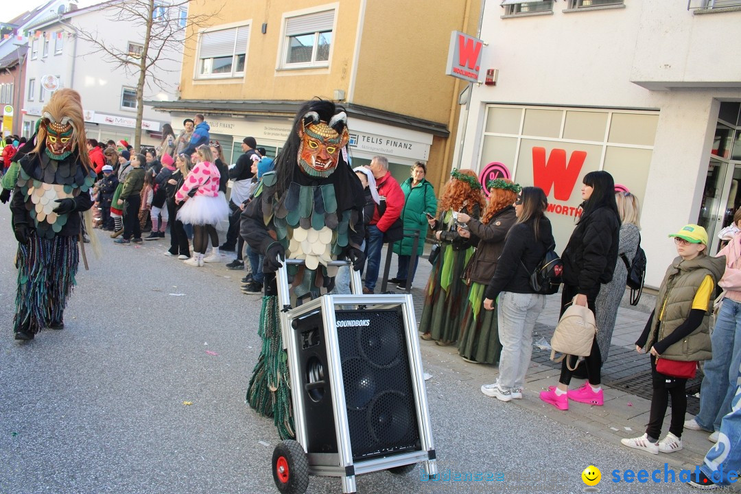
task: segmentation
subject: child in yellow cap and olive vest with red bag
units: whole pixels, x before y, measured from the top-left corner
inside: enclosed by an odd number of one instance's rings
[[[704,228],[688,224],[670,237],[674,237],[679,257],[666,270],[654,312],[636,341],[638,353],[651,353],[654,384],[651,415],[644,435],[620,440],[624,446],[654,455],[659,451],[674,453],[682,449],[687,411],[687,377],[680,377],[686,374],[677,372],[677,367],[688,362],[691,367],[697,365],[697,361],[711,359],[711,300],[717,282],[725,271],[725,256],[711,257],[705,252],[708,249],[708,233]],[[671,425],[669,433],[659,441],[669,395]]]

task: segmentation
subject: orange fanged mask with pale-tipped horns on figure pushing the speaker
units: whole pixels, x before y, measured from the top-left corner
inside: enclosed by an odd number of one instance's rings
[[[308,112],[302,118],[298,133],[299,167],[309,176],[328,177],[337,167],[339,153],[342,152],[350,136],[345,112],[336,113],[329,122],[319,119],[319,113]]]

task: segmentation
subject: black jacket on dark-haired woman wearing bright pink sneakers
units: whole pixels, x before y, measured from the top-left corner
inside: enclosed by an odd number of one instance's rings
[[[609,283],[617,263],[619,231],[620,220],[608,207],[582,216],[561,254],[564,284],[596,295],[600,284]]]

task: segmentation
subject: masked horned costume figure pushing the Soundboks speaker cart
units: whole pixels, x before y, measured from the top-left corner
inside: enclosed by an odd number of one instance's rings
[[[262,352],[250,378],[247,403],[258,413],[273,416],[281,438],[293,438],[290,376],[283,350],[275,271],[280,260],[298,258],[302,267],[288,267],[296,298],[316,298],[331,290],[337,267],[327,264],[348,258],[359,270],[362,184],[350,169],[345,146],[347,116],[330,101],[303,104],[275,171],[265,173],[254,198],[242,213],[240,235],[265,255],[265,296],[260,330]]]

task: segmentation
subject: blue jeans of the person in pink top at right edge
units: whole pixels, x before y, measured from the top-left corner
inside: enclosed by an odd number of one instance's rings
[[[723,301],[711,336],[713,358],[705,362],[700,387],[700,413],[697,424],[705,430],[720,430],[720,421],[731,412],[736,378],[741,367],[741,304]]]

